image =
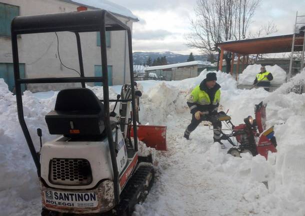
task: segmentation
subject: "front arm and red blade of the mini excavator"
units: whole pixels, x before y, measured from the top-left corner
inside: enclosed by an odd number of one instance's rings
[[[137,123],[137,138],[138,140],[144,142],[147,147],[155,148],[156,150],[166,151],[166,126],[160,125],[142,125],[139,122],[138,112],[139,108],[139,98],[142,96],[142,93],[137,90],[137,83],[134,82],[135,86],[135,111],[136,111],[136,123]],[[125,84],[121,89],[121,97],[122,99],[129,99],[131,95],[130,84]],[[121,131],[123,134],[127,134],[128,137],[134,137],[133,128],[130,126],[130,118],[128,118],[128,114],[130,114],[130,103],[129,102],[121,102],[120,103],[120,120],[121,123]],[[123,125],[129,125],[127,128],[124,128]],[[129,142],[130,139],[128,139]]]

